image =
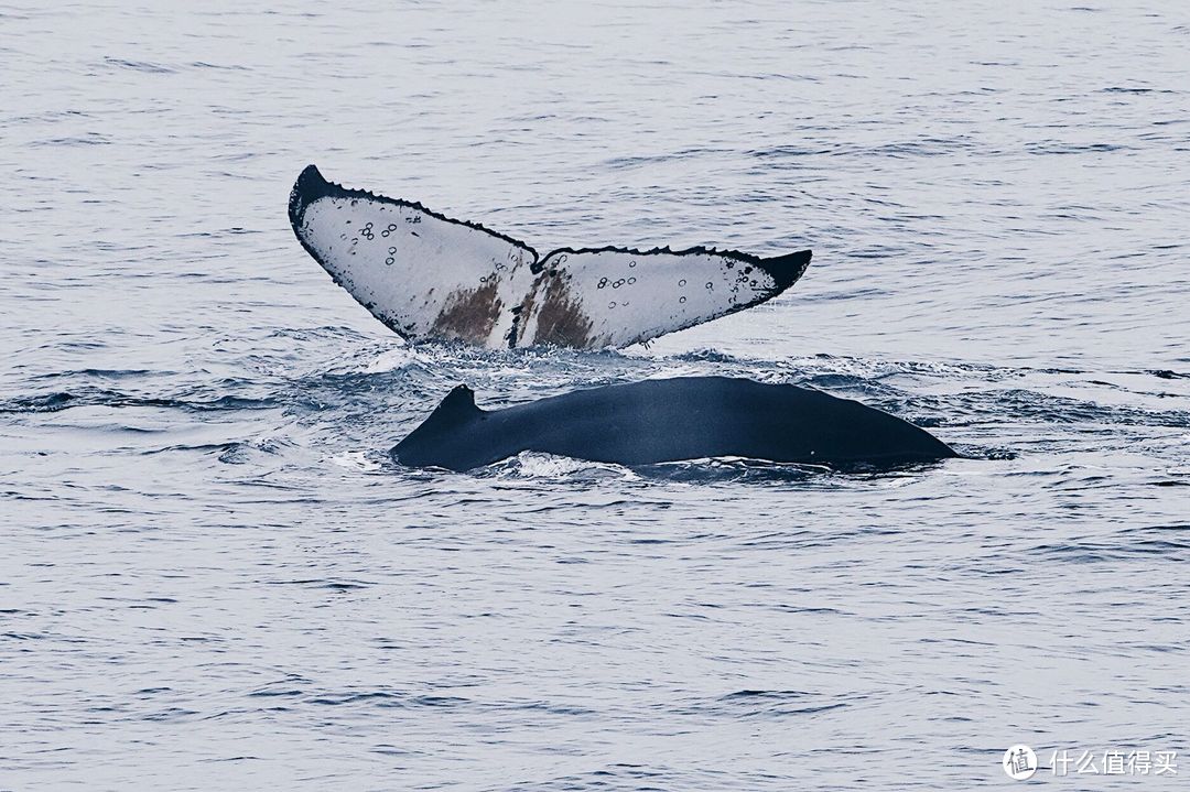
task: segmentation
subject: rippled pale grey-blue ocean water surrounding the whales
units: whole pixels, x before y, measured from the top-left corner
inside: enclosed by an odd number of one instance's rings
[[[1183,788],[1186,6],[23,2],[0,73],[0,788]],[[408,346],[293,238],[311,162],[815,257],[649,348]],[[677,373],[970,458],[387,455]]]

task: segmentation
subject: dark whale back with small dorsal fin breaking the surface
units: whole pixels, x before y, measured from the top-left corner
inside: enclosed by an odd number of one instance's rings
[[[678,377],[482,410],[466,385],[392,450],[411,467],[466,471],[524,451],[621,465],[744,457],[888,467],[957,457],[925,429],[795,385]]]

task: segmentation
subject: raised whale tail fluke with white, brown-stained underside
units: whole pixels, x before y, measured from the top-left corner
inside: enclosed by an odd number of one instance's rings
[[[336,283],[408,340],[488,348],[621,347],[776,297],[810,251],[560,247],[545,256],[416,202],[346,189],[307,166],[289,222]]]

